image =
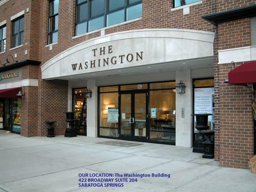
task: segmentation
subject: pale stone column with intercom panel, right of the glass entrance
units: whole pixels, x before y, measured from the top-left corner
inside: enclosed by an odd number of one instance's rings
[[[177,70],[175,72],[176,83],[183,81],[186,85],[185,94],[176,92],[176,146],[192,147],[193,141],[193,82],[191,70]],[[184,118],[182,118],[182,108],[184,108]]]

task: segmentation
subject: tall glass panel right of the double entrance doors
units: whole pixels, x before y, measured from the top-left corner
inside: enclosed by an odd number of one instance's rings
[[[150,141],[175,144],[175,89],[150,91]]]

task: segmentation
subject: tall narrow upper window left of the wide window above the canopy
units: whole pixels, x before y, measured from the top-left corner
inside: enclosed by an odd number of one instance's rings
[[[48,44],[58,41],[59,0],[49,1]]]

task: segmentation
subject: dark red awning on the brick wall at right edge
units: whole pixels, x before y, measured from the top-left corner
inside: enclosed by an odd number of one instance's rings
[[[229,72],[229,84],[244,85],[248,83],[256,83],[256,61],[244,62]]]

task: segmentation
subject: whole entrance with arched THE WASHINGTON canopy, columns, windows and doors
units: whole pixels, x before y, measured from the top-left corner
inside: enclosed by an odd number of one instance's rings
[[[100,36],[47,61],[42,79],[68,81],[68,110],[80,134],[191,147],[193,79],[213,76],[213,39],[183,29]]]

